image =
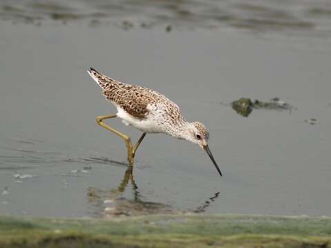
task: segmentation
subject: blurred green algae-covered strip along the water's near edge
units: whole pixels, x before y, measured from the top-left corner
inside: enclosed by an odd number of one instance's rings
[[[331,218],[163,215],[0,217],[0,247],[331,247]]]

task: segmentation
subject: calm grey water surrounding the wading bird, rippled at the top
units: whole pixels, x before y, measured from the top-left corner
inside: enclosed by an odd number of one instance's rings
[[[331,215],[329,1],[12,0],[0,19],[1,215],[104,216],[108,198],[126,213]],[[90,66],[205,123],[224,176],[197,145],[150,134],[118,192],[126,148],[94,121],[115,109]],[[274,96],[292,111],[229,105]]]

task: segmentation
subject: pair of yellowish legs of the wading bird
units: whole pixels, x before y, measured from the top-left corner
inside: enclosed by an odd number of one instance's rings
[[[97,123],[99,125],[101,125],[101,127],[106,128],[106,130],[109,130],[110,132],[113,132],[114,134],[117,134],[118,136],[123,138],[124,142],[126,143],[126,148],[128,149],[128,162],[130,163],[130,165],[132,165],[134,155],[136,154],[136,151],[137,151],[141,141],[143,141],[143,138],[145,138],[146,133],[143,133],[143,135],[141,135],[141,137],[139,138],[139,141],[137,142],[137,144],[134,145],[134,147],[132,147],[131,139],[129,136],[127,136],[126,134],[122,134],[121,132],[115,130],[114,128],[110,127],[106,123],[103,123],[103,120],[108,119],[108,118],[114,118],[116,116],[117,116],[117,114],[98,116]]]

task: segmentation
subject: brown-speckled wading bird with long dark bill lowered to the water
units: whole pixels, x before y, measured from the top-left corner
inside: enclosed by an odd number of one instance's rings
[[[110,79],[93,68],[88,70],[88,74],[102,88],[106,99],[117,108],[117,114],[98,116],[97,123],[123,138],[128,149],[130,165],[133,164],[134,155],[147,133],[163,133],[198,144],[207,152],[220,176],[222,176],[221,170],[208,147],[209,132],[207,128],[200,122],[190,123],[186,121],[176,103],[155,90],[121,83]],[[114,117],[121,118],[124,124],[132,125],[143,132],[136,145],[132,146],[129,136],[103,123],[103,120]]]

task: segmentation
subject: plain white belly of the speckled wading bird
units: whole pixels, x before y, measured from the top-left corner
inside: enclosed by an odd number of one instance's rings
[[[159,133],[162,132],[159,125],[157,125],[157,121],[153,120],[152,118],[146,118],[141,120],[136,118],[121,107],[117,106],[117,116],[122,119],[122,122],[126,125],[132,125],[137,129],[141,130],[141,132],[147,133]]]

